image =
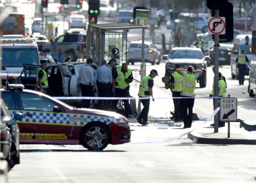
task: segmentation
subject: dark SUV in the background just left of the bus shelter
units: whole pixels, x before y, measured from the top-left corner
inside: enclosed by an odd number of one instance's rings
[[[85,33],[85,31],[79,31],[60,35],[54,41],[44,44],[42,46],[43,52],[50,52],[53,56],[58,53],[58,49],[63,52],[68,50],[72,61],[76,61],[79,53],[77,49],[79,43],[83,44],[83,52],[86,53],[86,35],[83,32]],[[83,37],[82,42],[80,42],[81,37]]]

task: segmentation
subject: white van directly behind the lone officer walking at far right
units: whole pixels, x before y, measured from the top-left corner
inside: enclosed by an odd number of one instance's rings
[[[249,42],[248,44],[245,44],[245,36],[249,37]],[[238,68],[237,68],[237,63],[235,62],[236,57],[238,56],[238,54],[240,54],[240,50],[244,49],[245,50],[245,54],[248,57],[249,61],[250,61],[250,45],[251,45],[251,34],[240,34],[237,35],[234,38],[233,41],[233,48],[231,51],[231,56],[230,56],[230,66],[231,66],[231,77],[232,79],[236,78],[238,79]],[[246,63],[247,67],[245,70],[245,75],[249,75],[249,67],[250,64]]]

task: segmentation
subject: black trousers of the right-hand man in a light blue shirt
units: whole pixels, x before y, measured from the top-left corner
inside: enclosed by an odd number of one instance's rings
[[[98,88],[98,96],[99,97],[109,97],[109,83],[104,83],[104,82],[97,82],[97,88]],[[108,99],[103,99],[103,100],[98,100],[99,108],[101,109],[102,106],[102,101],[104,103],[103,109],[107,110],[108,109]]]

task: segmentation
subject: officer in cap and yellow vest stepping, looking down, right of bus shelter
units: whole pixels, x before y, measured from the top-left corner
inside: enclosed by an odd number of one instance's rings
[[[148,124],[147,116],[149,111],[150,98],[147,98],[147,99],[142,99],[142,98],[152,96],[152,101],[154,101],[152,88],[154,85],[153,78],[156,75],[158,75],[157,71],[155,69],[152,69],[150,71],[150,74],[144,76],[141,83],[139,84],[138,96],[141,97],[140,102],[143,105],[143,109],[141,110],[140,114],[136,119],[138,123],[142,124],[143,126]]]

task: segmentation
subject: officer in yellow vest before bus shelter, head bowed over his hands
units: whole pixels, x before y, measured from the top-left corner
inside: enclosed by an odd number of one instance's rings
[[[112,93],[114,93],[115,97],[129,97],[129,83],[132,82],[133,76],[132,72],[128,67],[126,62],[122,63],[122,66],[116,69],[116,72],[112,75],[113,83],[112,83]],[[122,99],[124,103],[125,116],[131,116],[131,108],[128,99]],[[118,99],[112,101],[112,107],[116,110],[116,105],[118,103]]]

